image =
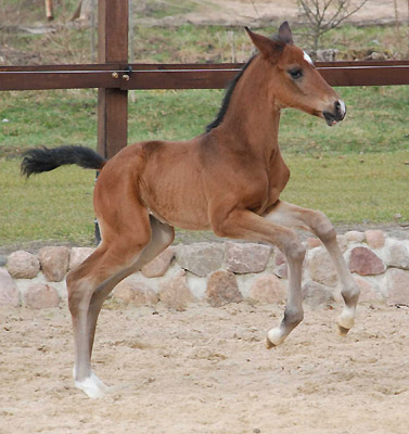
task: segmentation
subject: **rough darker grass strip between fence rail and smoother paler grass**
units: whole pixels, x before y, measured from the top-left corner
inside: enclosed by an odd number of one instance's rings
[[[285,110],[281,148],[287,153],[348,154],[409,149],[409,86],[338,88],[346,119],[321,119]],[[136,91],[129,103],[129,142],[181,140],[203,132],[220,106],[219,90]],[[0,156],[13,149],[97,142],[97,92],[61,90],[0,93]],[[9,122],[1,122],[8,119]]]

